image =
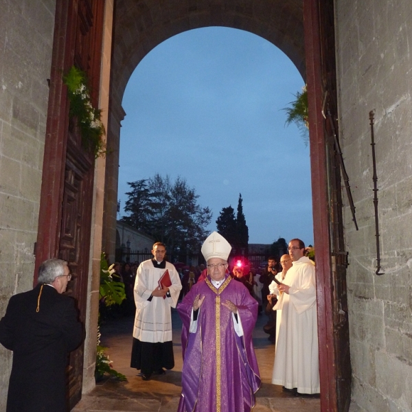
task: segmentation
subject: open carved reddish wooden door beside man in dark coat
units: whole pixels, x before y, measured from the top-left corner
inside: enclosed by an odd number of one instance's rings
[[[69,262],[73,279],[67,294],[78,302],[84,324],[93,204],[93,153],[84,150],[76,122],[69,119],[62,74],[72,65],[87,73],[97,107],[102,54],[104,0],[56,2],[43,182],[36,242],[36,269],[48,258]],[[37,271],[36,271],[37,273]],[[36,282],[35,273],[35,282]],[[71,352],[67,395],[72,408],[81,398],[83,345]]]

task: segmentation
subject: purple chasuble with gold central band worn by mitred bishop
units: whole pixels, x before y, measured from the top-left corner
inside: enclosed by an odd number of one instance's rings
[[[193,301],[205,296],[198,312],[196,332],[190,333]],[[226,300],[236,305],[243,336],[233,327]],[[250,412],[260,375],[252,332],[258,315],[258,302],[240,282],[227,277],[215,288],[208,276],[195,284],[177,306],[183,320],[182,394],[179,412]]]

